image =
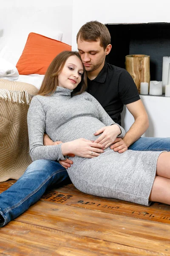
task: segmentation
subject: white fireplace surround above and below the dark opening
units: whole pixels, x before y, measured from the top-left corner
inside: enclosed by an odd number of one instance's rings
[[[77,50],[76,35],[79,28],[88,21],[98,20],[102,23],[148,23],[170,22],[170,2],[167,0],[86,0],[80,6],[73,0],[72,49]],[[141,96],[147,110],[150,127],[146,137],[170,137],[170,98]],[[133,116],[124,109],[122,114],[125,130],[133,123]]]

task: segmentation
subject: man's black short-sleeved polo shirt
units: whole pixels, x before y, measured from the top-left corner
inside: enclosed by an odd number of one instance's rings
[[[106,62],[94,80],[88,79],[87,92],[99,101],[113,121],[119,125],[123,105],[140,99],[130,74],[125,69]]]

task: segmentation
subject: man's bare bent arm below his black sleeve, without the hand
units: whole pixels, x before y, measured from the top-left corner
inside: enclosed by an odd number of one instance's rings
[[[149,119],[141,99],[136,102],[127,104],[126,107],[135,119],[133,125],[130,127],[129,131],[127,131],[125,137],[123,138],[127,147],[129,147],[147,130],[149,127]]]

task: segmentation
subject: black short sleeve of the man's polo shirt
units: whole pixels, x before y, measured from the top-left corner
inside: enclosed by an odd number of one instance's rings
[[[118,93],[124,105],[140,99],[136,84],[127,70],[124,70],[119,77]]]

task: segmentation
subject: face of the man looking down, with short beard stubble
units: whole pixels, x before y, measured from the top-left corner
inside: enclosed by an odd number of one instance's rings
[[[77,47],[87,72],[97,70],[104,65],[106,51],[99,41],[77,41]]]

